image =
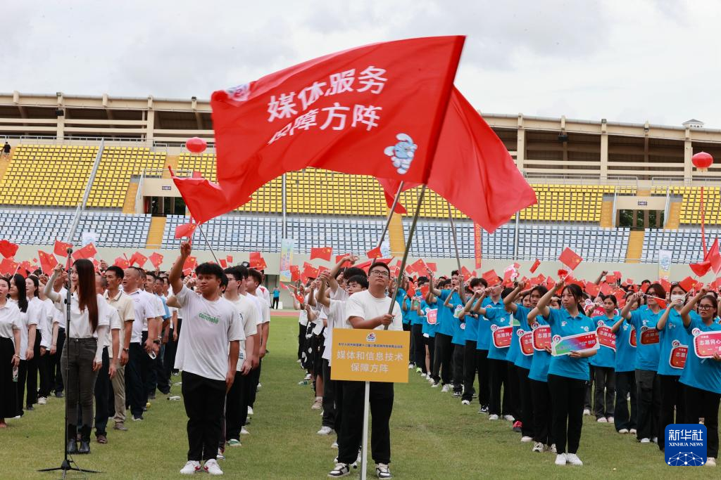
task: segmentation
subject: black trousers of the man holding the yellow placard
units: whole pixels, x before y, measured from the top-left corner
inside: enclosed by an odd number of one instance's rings
[[[340,381],[342,423],[338,433],[338,461],[353,463],[363,440],[363,403],[366,382]],[[370,385],[371,457],[376,463],[391,463],[393,384],[372,381]]]

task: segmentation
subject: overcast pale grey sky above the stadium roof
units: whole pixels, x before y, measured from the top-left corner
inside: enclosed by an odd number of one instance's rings
[[[0,91],[208,99],[335,50],[467,35],[482,112],[721,128],[720,1],[4,1]]]

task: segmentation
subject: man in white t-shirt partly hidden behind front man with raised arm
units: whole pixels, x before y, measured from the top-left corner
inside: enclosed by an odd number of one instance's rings
[[[249,373],[254,364],[256,339],[259,338],[260,315],[252,299],[240,294],[241,289],[245,290],[244,283],[248,278],[247,268],[234,266],[226,268],[223,272],[228,277],[224,298],[231,302],[238,311],[245,340],[240,342],[235,381],[226,395],[226,425],[222,441],[227,441],[231,447],[239,447],[241,445],[240,435],[247,434],[244,423],[247,420]]]

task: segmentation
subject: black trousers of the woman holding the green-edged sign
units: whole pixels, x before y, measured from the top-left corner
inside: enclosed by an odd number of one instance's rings
[[[551,437],[558,453],[576,453],[583,427],[585,381],[549,375],[551,391]]]

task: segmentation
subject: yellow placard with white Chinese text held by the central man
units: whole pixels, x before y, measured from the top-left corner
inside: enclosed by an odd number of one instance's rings
[[[410,332],[333,329],[332,380],[408,383]]]

